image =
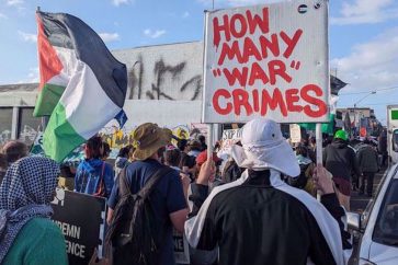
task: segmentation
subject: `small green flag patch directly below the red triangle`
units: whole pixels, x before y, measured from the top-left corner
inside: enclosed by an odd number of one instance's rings
[[[33,116],[49,116],[58,104],[65,87],[46,83],[37,96]]]

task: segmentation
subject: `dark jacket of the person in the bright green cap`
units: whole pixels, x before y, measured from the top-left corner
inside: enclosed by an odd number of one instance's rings
[[[334,140],[323,150],[323,165],[334,177],[350,181],[351,172],[360,176],[361,170],[355,158],[355,151],[345,141]]]

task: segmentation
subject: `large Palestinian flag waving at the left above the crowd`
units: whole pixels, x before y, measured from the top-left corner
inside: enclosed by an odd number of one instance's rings
[[[36,16],[41,92],[35,115],[50,114],[44,151],[60,162],[111,119],[126,120],[127,71],[78,18],[44,12]]]

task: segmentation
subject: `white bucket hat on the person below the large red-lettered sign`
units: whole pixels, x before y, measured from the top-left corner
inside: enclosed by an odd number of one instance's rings
[[[274,169],[298,176],[300,169],[292,147],[282,136],[281,126],[272,119],[255,118],[243,126],[242,147],[232,146],[231,155],[240,168]]]

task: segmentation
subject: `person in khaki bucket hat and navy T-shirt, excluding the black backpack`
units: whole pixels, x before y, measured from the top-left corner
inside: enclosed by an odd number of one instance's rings
[[[147,185],[153,180],[158,170],[164,166],[159,162],[159,150],[163,150],[163,147],[170,143],[171,131],[161,129],[157,125],[148,123],[138,126],[133,138],[137,143],[137,148],[133,154],[135,161],[126,168],[125,181],[129,184],[129,193],[137,194],[138,192],[148,188]],[[124,204],[120,184],[122,181],[121,177],[120,181],[116,182],[107,201],[110,207],[107,221],[111,223],[111,227],[126,224],[114,224],[114,222],[117,222],[117,220],[114,219],[114,214],[117,214],[115,210],[121,207],[121,204]],[[150,212],[147,211],[151,219],[151,229],[150,232],[140,231],[141,235],[145,237],[145,241],[147,242],[151,237],[150,234],[157,234],[156,239],[153,238],[155,246],[158,250],[156,252],[158,257],[155,264],[175,264],[173,256],[172,227],[182,231],[183,222],[187,215],[186,200],[177,171],[170,170],[168,173],[161,175],[149,195],[148,204],[150,205],[149,208],[152,209]],[[127,219],[125,219],[125,221],[128,222]],[[132,226],[134,227],[133,222]],[[117,233],[115,237],[117,237]],[[132,244],[139,245],[139,242],[135,240],[137,239],[132,238]],[[115,247],[113,253],[117,254],[121,249],[117,249],[117,246]],[[136,254],[137,253],[132,252],[132,255]],[[114,264],[126,264],[121,256],[116,255],[113,256],[113,258]],[[133,258],[134,257],[130,256],[128,261],[132,261]]]

